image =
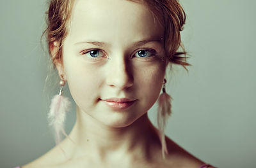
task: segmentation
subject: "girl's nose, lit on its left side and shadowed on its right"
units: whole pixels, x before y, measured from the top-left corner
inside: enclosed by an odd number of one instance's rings
[[[111,57],[108,60],[108,69],[106,83],[110,87],[116,87],[120,90],[129,88],[133,85],[132,67],[125,57]]]

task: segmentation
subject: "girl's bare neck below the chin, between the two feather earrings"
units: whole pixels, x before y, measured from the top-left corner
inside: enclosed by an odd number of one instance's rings
[[[99,160],[116,160],[116,157],[150,160],[152,151],[159,148],[156,129],[147,113],[126,127],[108,127],[77,110],[76,124],[69,136],[75,142],[72,153],[93,155]]]

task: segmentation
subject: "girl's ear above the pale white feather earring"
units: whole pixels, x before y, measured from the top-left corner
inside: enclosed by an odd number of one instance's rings
[[[58,74],[62,80],[65,80],[65,71],[63,66],[62,55],[60,55],[60,43],[53,41],[49,43],[49,50],[51,52],[52,62],[58,70]]]

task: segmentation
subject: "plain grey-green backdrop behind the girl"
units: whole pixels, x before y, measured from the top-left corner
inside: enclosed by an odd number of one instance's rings
[[[182,41],[193,66],[189,73],[174,67],[168,74],[173,114],[166,134],[216,167],[255,167],[256,2],[181,3],[187,14]],[[47,97],[58,88],[44,91],[48,55],[40,45],[46,6],[45,0],[0,2],[1,168],[24,165],[54,146]],[[148,113],[156,123],[156,106]]]

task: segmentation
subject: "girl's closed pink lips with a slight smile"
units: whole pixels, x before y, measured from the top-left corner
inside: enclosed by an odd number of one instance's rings
[[[102,99],[102,101],[105,102],[105,104],[110,108],[114,110],[120,110],[120,109],[127,109],[130,106],[132,106],[132,104],[136,102],[136,99],[131,100],[127,98],[110,98],[110,99]]]

